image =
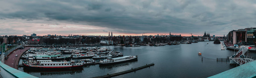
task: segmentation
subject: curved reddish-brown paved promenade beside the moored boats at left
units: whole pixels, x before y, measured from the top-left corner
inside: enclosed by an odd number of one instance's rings
[[[9,56],[6,57],[5,64],[12,68],[18,69],[18,63],[21,55],[23,54],[23,52],[25,52],[29,48],[31,47],[24,47],[24,49],[18,49],[12,52],[11,54],[9,54]],[[16,54],[18,55],[17,57],[15,56]]]

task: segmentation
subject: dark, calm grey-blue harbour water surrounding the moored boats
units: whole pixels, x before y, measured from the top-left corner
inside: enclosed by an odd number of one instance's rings
[[[209,43],[209,44],[207,44]],[[40,78],[79,78],[96,77],[107,73],[117,73],[131,68],[137,68],[154,63],[150,68],[144,68],[136,72],[116,76],[115,78],[163,78],[163,77],[210,77],[223,71],[232,69],[236,65],[230,65],[229,61],[216,61],[216,58],[226,58],[234,54],[234,51],[221,50],[220,44],[213,41],[192,44],[166,45],[166,46],[100,46],[123,52],[124,56],[138,55],[138,61],[116,64],[112,66],[90,65],[75,70],[28,70],[19,68],[28,74]],[[199,56],[198,52],[202,52]],[[254,54],[255,53],[250,53]],[[203,57],[203,61],[202,61]],[[97,60],[98,61],[98,60]]]

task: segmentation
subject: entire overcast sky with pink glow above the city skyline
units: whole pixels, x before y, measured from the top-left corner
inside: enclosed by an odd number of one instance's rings
[[[223,36],[255,26],[255,0],[0,0],[0,35]]]

